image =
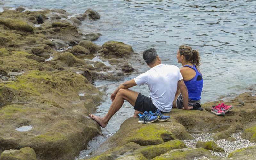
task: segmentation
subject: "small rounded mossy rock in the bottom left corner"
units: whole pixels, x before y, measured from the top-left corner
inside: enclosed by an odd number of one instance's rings
[[[30,147],[24,147],[20,150],[5,150],[2,152],[0,160],[22,160],[22,159],[29,159],[29,160],[36,160],[36,153]]]

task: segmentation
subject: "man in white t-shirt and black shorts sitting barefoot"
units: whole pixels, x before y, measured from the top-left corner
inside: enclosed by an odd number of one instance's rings
[[[183,109],[188,110],[191,108],[188,107],[188,91],[183,82],[180,69],[174,65],[161,64],[161,60],[154,48],[144,51],[143,59],[151,69],[130,81],[124,82],[112,93],[110,97],[112,104],[104,117],[89,115],[102,128],[106,127],[110,118],[122,107],[124,100],[134,106],[134,117],[138,117],[138,114],[142,114],[144,111],[156,112],[157,109],[162,112],[170,112],[177,86],[180,88],[183,97]],[[128,89],[144,84],[149,87],[150,98]]]

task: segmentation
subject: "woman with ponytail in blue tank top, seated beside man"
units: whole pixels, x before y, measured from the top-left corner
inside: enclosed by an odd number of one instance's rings
[[[181,63],[183,66],[180,68],[180,73],[188,89],[188,106],[193,106],[196,103],[200,104],[203,77],[198,68],[200,65],[199,52],[189,46],[182,45],[177,51],[177,59],[178,63]],[[178,109],[182,109],[183,107],[183,100],[179,88],[177,88],[173,107],[177,107]]]

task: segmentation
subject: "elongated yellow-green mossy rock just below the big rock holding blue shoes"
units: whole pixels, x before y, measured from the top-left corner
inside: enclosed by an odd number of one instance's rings
[[[147,159],[152,159],[172,149],[182,148],[187,148],[187,146],[184,144],[182,140],[170,140],[168,142],[158,145],[152,145],[147,147],[145,146],[144,148],[140,148],[137,151],[143,154],[143,156],[146,157]]]

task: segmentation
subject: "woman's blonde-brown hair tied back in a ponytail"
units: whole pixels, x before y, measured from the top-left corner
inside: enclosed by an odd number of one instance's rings
[[[179,47],[180,55],[185,57],[185,60],[189,61],[190,63],[199,66],[200,65],[200,56],[197,50],[193,50],[191,47],[187,45],[181,45]]]

